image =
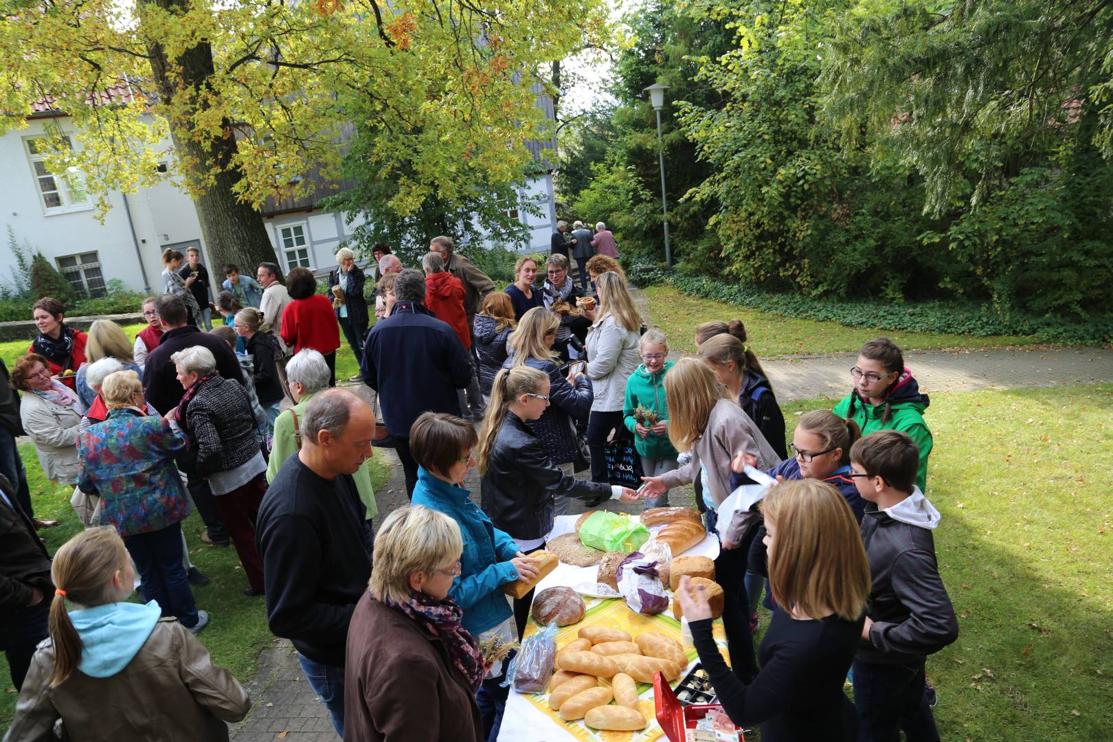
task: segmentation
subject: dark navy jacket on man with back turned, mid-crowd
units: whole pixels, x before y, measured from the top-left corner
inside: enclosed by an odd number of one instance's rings
[[[472,362],[452,327],[420,303],[398,301],[367,333],[359,370],[380,394],[386,429],[407,437],[426,410],[460,414],[456,389],[467,387]]]

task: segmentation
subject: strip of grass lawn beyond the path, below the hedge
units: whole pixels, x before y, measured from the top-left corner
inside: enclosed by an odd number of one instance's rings
[[[642,289],[646,309],[652,325],[669,339],[669,347],[683,353],[696,352],[696,327],[709,319],[741,319],[749,345],[759,358],[792,354],[854,352],[868,339],[887,335],[905,350],[933,348],[986,348],[1011,345],[1035,345],[1030,336],[1005,335],[971,337],[933,333],[902,333],[883,329],[846,327],[831,321],[794,319],[768,311],[758,311],[725,301],[701,299],[681,294],[671,286]]]

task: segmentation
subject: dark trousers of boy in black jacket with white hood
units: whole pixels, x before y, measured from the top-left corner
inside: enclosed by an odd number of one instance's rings
[[[935,716],[924,698],[924,661],[875,664],[854,661],[854,705],[858,742],[939,742]]]

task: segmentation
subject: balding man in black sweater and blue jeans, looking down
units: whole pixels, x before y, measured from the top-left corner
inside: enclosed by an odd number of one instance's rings
[[[267,625],[298,662],[344,736],[344,645],[367,590],[373,540],[352,475],[371,456],[375,418],[345,389],[314,395],[302,448],[278,469],[255,525]]]

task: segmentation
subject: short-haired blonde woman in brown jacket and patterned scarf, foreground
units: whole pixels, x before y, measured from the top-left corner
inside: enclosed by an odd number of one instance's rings
[[[345,739],[483,742],[483,656],[449,597],[463,548],[460,526],[434,509],[405,506],[383,522],[348,625]]]

